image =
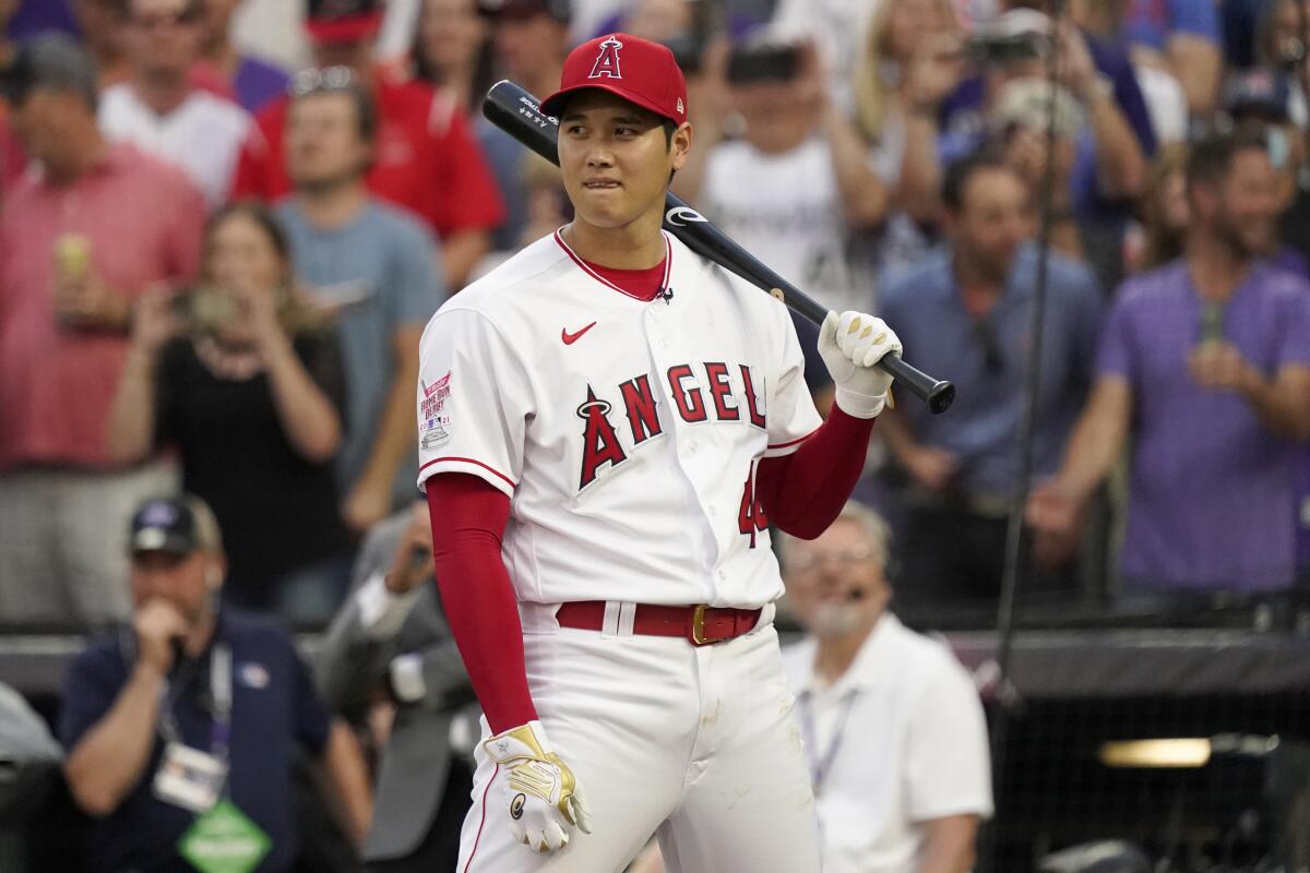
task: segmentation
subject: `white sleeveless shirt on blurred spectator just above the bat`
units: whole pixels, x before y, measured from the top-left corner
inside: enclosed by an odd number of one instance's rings
[[[698,207],[824,306],[871,309],[872,288],[853,267],[837,173],[821,136],[786,154],[765,154],[745,140],[715,145]]]

